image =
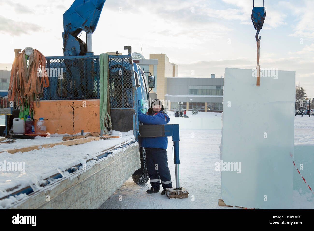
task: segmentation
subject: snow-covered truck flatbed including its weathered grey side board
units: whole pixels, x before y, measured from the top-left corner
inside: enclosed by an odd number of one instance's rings
[[[112,135],[119,135],[119,132],[113,131]],[[0,208],[82,208],[76,201],[93,196],[100,197],[99,202],[90,202],[88,208],[97,208],[141,167],[138,142],[135,142],[133,130],[122,132],[121,135],[121,138],[95,140],[73,146],[57,145],[15,154],[5,151],[0,153],[0,163],[22,163],[21,166],[24,163],[24,169],[20,169],[22,171],[1,171]],[[36,136],[31,141],[17,140],[15,143],[4,144],[0,151],[27,144],[59,142],[63,136],[54,135],[49,139]],[[117,168],[117,165],[121,168]],[[82,174],[85,175],[84,178],[80,177]],[[89,177],[97,174],[99,179],[89,180]],[[108,181],[111,183],[108,184]],[[121,182],[115,184],[115,181]],[[88,192],[84,188],[85,184],[89,185]],[[98,184],[110,186],[104,186],[101,190],[95,188]],[[51,192],[57,185],[57,191],[48,193],[49,201],[42,200],[42,196],[47,196],[47,190]],[[65,192],[67,193],[63,194]],[[53,200],[63,202],[47,203]]]

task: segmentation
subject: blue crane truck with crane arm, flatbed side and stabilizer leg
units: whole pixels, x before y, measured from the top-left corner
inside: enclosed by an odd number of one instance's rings
[[[96,29],[104,2],[75,0],[63,14],[64,55],[46,57],[46,68],[62,69],[62,76],[48,77],[49,86],[40,95],[41,100],[100,99],[100,56],[94,55],[91,50],[91,34]],[[87,44],[78,37],[82,31],[86,32]],[[145,113],[149,101],[157,98],[155,93],[150,92],[155,87],[155,79],[150,73],[147,78],[143,69],[133,63],[131,46],[124,48],[127,54],[116,52],[108,57],[111,122],[113,130],[133,130],[135,139],[103,151],[97,156],[97,161],[91,162],[85,169],[78,163],[66,169],[67,174],[60,172],[49,179],[42,179],[46,183],[42,183],[39,189],[32,185],[8,189],[7,195],[0,200],[25,195],[8,208],[95,209],[130,176],[136,184],[147,183],[149,175],[141,137],[173,137],[176,190],[182,189],[179,185],[179,126],[140,124],[138,112]],[[155,126],[153,132],[150,126]],[[47,200],[48,196],[50,200]]]

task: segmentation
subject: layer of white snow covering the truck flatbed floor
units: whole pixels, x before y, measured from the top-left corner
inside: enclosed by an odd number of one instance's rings
[[[111,135],[119,135],[120,132],[113,131]],[[46,137],[36,136],[34,140],[16,140],[15,143],[2,144],[1,150],[11,148],[21,148],[32,145],[43,145],[47,143],[57,143],[62,141],[63,135],[51,135]],[[30,184],[39,185],[41,180],[46,179],[56,173],[62,172],[77,164],[86,163],[86,159],[91,159],[103,153],[112,146],[120,146],[121,143],[134,140],[133,130],[122,132],[121,138],[95,140],[84,144],[64,146],[57,145],[51,148],[42,148],[27,152],[10,154],[0,153],[0,163],[24,162],[25,171],[0,171],[0,198],[8,195],[5,191],[19,185],[22,189]],[[90,163],[86,163],[88,166]]]

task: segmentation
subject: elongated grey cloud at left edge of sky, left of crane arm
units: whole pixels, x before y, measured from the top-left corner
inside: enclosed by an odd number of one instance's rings
[[[33,23],[17,22],[0,15],[0,32],[10,36],[30,35],[40,31],[40,26]]]

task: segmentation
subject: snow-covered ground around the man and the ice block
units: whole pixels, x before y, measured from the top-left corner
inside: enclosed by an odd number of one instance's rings
[[[187,113],[193,118],[190,112]],[[174,118],[173,113],[170,114],[170,119]],[[199,112],[195,118],[213,118],[214,114],[217,114],[217,123],[221,123],[221,113]],[[180,119],[183,121],[185,118]],[[171,140],[168,137],[168,165],[175,185]],[[215,163],[220,161],[220,140],[220,129],[180,129],[180,186],[189,191],[188,199],[168,199],[160,193],[147,194],[149,182],[137,185],[131,177],[99,209],[240,209],[218,206],[218,199],[221,199],[220,172],[215,171]],[[295,144],[304,143],[314,145],[314,116],[295,118]],[[119,201],[120,195],[122,201]],[[313,197],[310,201],[307,198],[312,196],[310,191],[300,196],[294,190],[293,195],[293,208],[314,209]]]

